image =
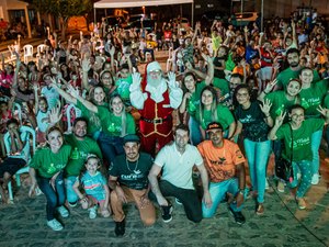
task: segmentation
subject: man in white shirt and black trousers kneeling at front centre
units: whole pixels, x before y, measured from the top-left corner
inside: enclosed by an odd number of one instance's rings
[[[198,223],[202,220],[201,202],[192,180],[194,165],[202,179],[203,201],[207,206],[212,205],[207,171],[197,148],[188,144],[189,132],[189,127],[184,124],[175,127],[174,142],[159,151],[148,175],[151,186],[149,198],[161,206],[162,220],[166,223],[172,220],[172,205],[164,197],[177,198],[183,204],[190,221]],[[162,177],[158,181],[161,170]]]

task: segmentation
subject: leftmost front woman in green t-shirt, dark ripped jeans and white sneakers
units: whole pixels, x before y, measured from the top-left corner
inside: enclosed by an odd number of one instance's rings
[[[32,186],[29,192],[31,197],[36,184],[47,199],[47,225],[53,231],[61,231],[63,225],[55,217],[56,211],[61,217],[68,217],[69,212],[65,207],[65,183],[63,171],[71,154],[71,146],[64,144],[63,132],[57,126],[47,131],[48,146],[36,150],[30,164],[30,177]]]

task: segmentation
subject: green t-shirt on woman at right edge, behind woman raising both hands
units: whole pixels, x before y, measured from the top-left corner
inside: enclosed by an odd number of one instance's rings
[[[321,80],[310,85],[308,89],[302,89],[299,92],[300,104],[305,108],[305,115],[320,116],[317,108],[321,104],[328,89],[328,80]]]

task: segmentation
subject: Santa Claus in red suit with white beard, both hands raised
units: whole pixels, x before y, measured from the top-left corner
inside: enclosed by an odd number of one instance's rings
[[[145,151],[156,153],[172,141],[172,111],[182,102],[183,91],[175,81],[173,72],[168,78],[162,75],[158,61],[149,63],[141,81],[139,72],[133,74],[131,102],[140,114],[139,130],[141,147]]]

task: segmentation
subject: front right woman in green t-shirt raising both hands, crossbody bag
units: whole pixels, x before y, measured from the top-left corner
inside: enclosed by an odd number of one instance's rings
[[[310,187],[313,177],[313,151],[311,151],[311,135],[321,130],[328,123],[329,111],[318,108],[319,112],[326,116],[324,119],[305,119],[305,109],[300,104],[294,104],[288,114],[284,111],[275,120],[273,128],[269,133],[270,139],[283,139],[284,150],[282,156],[290,160],[292,158],[293,180],[288,186],[295,194],[296,203],[299,210],[307,207],[305,194]],[[288,115],[290,121],[284,124],[285,115]],[[300,180],[297,172],[300,171]]]

